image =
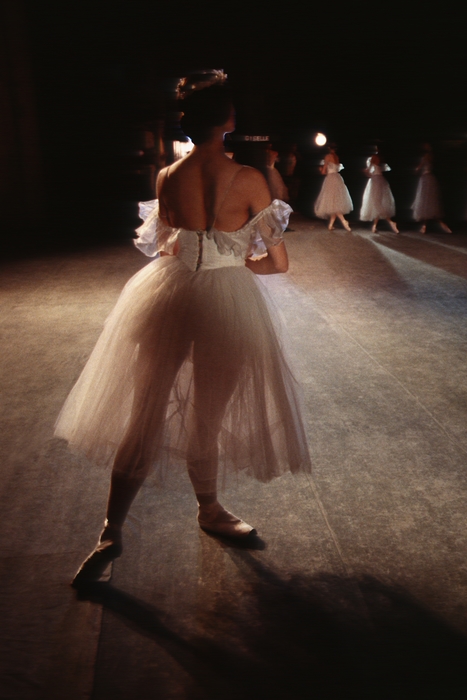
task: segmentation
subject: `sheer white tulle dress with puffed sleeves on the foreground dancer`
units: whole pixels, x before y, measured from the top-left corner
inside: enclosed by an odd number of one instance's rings
[[[136,246],[148,256],[178,251],[125,286],[56,435],[103,464],[125,438],[134,455],[125,475],[135,478],[150,464],[161,481],[186,461],[219,462],[224,473],[246,470],[260,481],[310,471],[280,324],[245,267],[282,240],[291,208],[274,200],[231,233],[171,228],[157,200],[140,211]]]

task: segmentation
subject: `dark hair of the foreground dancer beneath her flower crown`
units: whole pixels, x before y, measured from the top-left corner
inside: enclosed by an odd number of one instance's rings
[[[225,124],[232,113],[232,95],[224,85],[195,90],[180,102],[181,127],[195,144],[207,141],[213,127]]]

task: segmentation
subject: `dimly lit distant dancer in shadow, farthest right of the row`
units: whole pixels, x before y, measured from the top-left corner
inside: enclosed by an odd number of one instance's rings
[[[433,149],[429,143],[423,144],[423,155],[416,171],[418,179],[417,192],[412,204],[413,218],[421,222],[420,233],[426,233],[427,221],[435,220],[445,233],[452,233],[442,220],[443,210],[436,177],[433,175]]]

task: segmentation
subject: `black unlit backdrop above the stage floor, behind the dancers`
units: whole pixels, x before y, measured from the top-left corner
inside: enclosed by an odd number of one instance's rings
[[[464,218],[465,23],[453,3],[436,12],[418,2],[303,10],[295,0],[2,7],[4,242],[17,230],[39,247],[130,237],[135,202],[152,195],[138,176],[138,133],[166,118],[176,77],[206,67],[229,75],[238,132],[298,144],[311,182],[303,213],[322,157],[312,146],[319,129],[337,141],[354,199],[378,139],[402,218],[420,142],[431,141],[447,218]]]

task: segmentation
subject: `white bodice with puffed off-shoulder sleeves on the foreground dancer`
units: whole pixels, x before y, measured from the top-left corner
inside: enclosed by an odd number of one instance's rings
[[[288,204],[275,199],[237,231],[190,231],[165,224],[159,218],[157,200],[140,202],[144,223],[137,229],[135,245],[149,257],[177,251],[193,271],[243,266],[246,258],[264,255],[282,241],[291,211]]]

